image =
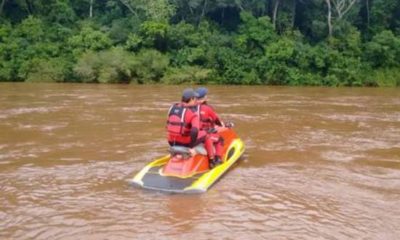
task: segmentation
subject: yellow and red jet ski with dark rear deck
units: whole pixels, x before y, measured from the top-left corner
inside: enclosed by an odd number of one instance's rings
[[[191,156],[189,148],[173,146],[170,154],[145,166],[130,181],[133,185],[165,192],[206,192],[243,154],[243,141],[232,128],[216,129],[224,139],[222,163],[210,169],[204,146],[195,147]]]

